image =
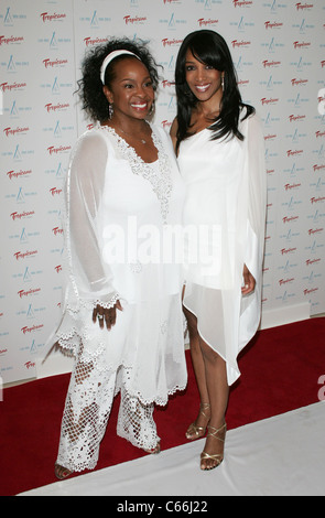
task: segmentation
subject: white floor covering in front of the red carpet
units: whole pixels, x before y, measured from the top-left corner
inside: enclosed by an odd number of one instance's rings
[[[212,472],[199,440],[18,496],[324,496],[324,430],[318,402],[230,430]]]

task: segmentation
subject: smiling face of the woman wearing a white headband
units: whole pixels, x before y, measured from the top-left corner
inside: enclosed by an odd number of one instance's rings
[[[150,74],[137,57],[127,57],[113,64],[115,78],[104,93],[113,105],[115,118],[144,119],[154,101]]]

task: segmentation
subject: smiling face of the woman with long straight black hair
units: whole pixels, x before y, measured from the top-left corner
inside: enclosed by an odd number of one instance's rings
[[[210,65],[199,62],[188,48],[185,61],[185,77],[187,85],[198,101],[219,102],[223,97],[224,73]]]

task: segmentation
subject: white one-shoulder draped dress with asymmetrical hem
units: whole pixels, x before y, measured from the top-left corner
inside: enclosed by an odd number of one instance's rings
[[[212,141],[204,129],[182,141],[178,153],[187,187],[184,305],[197,316],[203,339],[226,360],[228,385],[240,376],[237,356],[260,321],[266,222],[261,125],[253,115],[239,129],[243,141]],[[256,279],[247,296],[243,265]]]

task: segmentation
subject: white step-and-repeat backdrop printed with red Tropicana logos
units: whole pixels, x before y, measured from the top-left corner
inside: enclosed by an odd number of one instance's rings
[[[149,42],[163,66],[155,122],[175,116],[184,36],[224,35],[243,100],[264,128],[268,169],[263,315],[325,311],[325,2],[1,0],[0,376],[37,376],[61,315],[61,207],[71,150],[87,128],[74,94],[87,48]]]

